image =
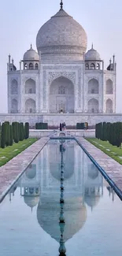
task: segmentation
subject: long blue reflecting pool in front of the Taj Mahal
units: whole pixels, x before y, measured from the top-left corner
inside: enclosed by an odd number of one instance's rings
[[[76,141],[50,140],[0,204],[0,255],[121,256],[121,217]]]

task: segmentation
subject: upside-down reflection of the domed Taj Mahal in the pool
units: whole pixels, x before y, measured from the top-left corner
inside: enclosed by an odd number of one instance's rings
[[[53,145],[53,151],[51,150]],[[50,152],[50,154],[49,154]],[[74,140],[64,143],[64,240],[71,239],[87,221],[87,207],[98,206],[103,195],[103,177]],[[61,143],[50,141],[16,186],[30,207],[37,207],[39,225],[60,240]],[[108,191],[110,192],[110,191]]]

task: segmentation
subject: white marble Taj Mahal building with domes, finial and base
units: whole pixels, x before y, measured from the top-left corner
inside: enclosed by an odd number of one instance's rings
[[[96,123],[116,117],[115,56],[105,69],[97,50],[87,50],[83,27],[63,9],[39,29],[37,50],[24,53],[17,70],[9,55],[8,113],[20,121]],[[121,117],[119,117],[121,118]]]

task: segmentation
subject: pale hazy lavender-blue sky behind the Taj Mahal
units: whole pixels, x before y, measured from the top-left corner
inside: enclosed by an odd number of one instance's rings
[[[0,113],[7,112],[7,66],[11,54],[17,69],[24,52],[35,39],[39,28],[59,10],[60,0],[1,0],[0,1]],[[88,45],[94,43],[109,65],[116,55],[116,111],[122,113],[122,2],[121,0],[64,0],[64,9],[87,32]],[[36,48],[35,48],[36,49]]]

